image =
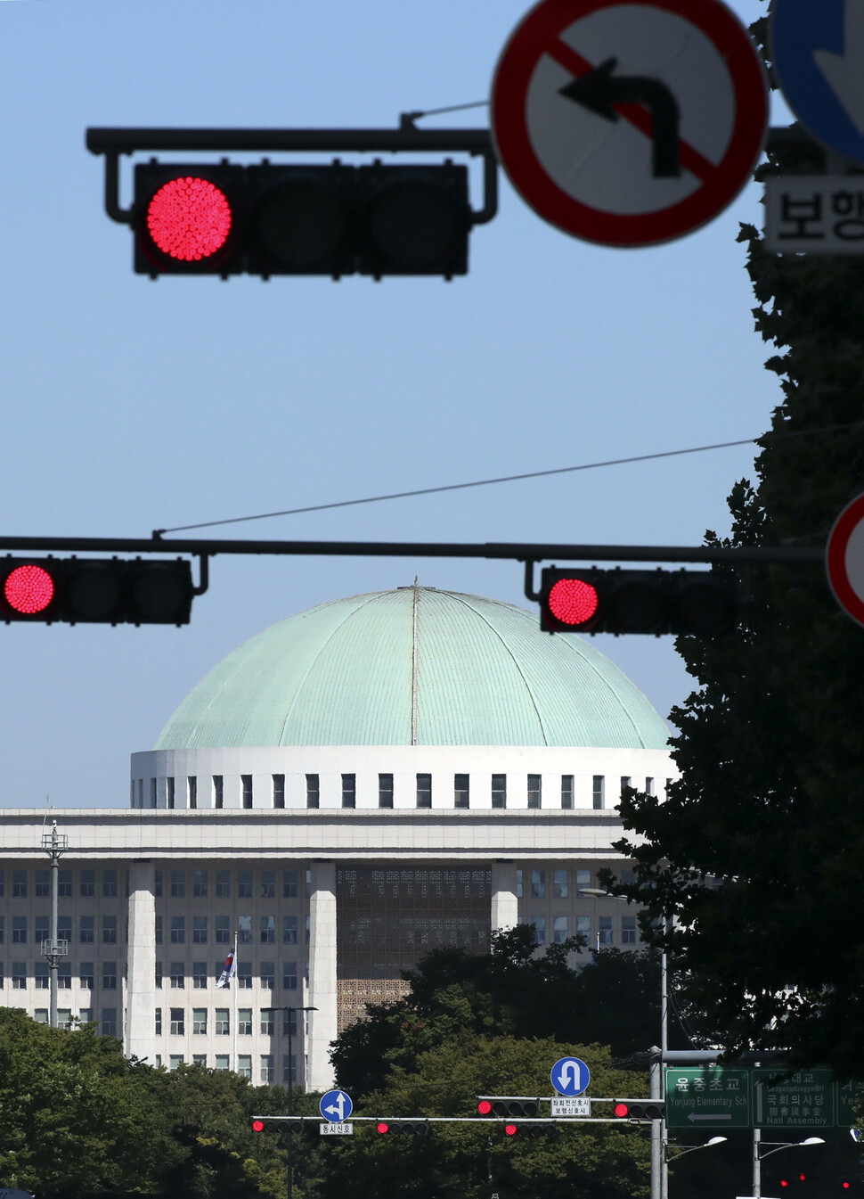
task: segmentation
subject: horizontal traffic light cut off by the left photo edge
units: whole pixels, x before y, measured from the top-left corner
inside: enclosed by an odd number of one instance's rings
[[[0,558],[7,625],[188,625],[193,595],[183,559]]]

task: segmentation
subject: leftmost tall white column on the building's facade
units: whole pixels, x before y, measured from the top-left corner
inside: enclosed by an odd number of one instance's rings
[[[127,951],[123,1053],[156,1065],[156,887],[151,862],[129,867],[129,947]]]

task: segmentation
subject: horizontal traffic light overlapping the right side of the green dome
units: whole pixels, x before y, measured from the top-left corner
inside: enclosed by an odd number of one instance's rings
[[[540,578],[540,628],[548,633],[696,633],[735,627],[732,583],[714,571],[563,571]]]

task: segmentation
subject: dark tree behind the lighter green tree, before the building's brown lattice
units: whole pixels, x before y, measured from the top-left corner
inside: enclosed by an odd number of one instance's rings
[[[648,953],[600,950],[576,974],[570,940],[536,952],[533,929],[519,926],[493,934],[489,953],[434,950],[405,977],[410,994],[369,1010],[336,1043],[339,1086],[365,1095],[385,1085],[393,1066],[416,1067],[418,1058],[449,1040],[476,1036],[555,1037],[574,1032],[609,1044],[616,1056],[645,1050],[659,1036],[659,968]],[[584,960],[591,959],[584,953]]]

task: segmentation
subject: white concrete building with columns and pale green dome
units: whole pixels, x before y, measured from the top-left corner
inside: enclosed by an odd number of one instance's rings
[[[634,910],[580,891],[627,868],[617,796],[666,787],[666,737],[590,641],[509,604],[412,586],[289,617],[132,755],[128,809],[53,813],[60,1018],[164,1066],[325,1089],[339,1028],[434,946],[518,921],[635,946]],[[1,823],[0,995],[46,1019],[42,813]]]

